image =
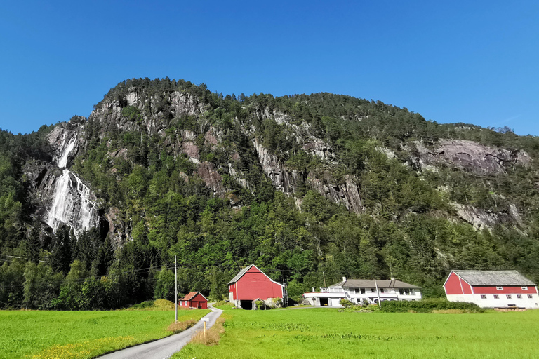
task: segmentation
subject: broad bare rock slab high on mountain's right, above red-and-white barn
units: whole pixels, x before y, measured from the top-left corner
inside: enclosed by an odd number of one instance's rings
[[[524,151],[509,151],[487,147],[465,140],[440,140],[433,149],[427,149],[420,141],[413,142],[417,157],[411,161],[424,170],[445,164],[462,168],[477,175],[503,173],[515,165],[528,165],[531,158]]]

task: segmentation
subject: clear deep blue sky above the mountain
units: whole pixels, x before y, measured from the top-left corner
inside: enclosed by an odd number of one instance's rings
[[[539,135],[539,1],[1,1],[0,69],[13,133],[88,116],[125,79],[168,76]]]

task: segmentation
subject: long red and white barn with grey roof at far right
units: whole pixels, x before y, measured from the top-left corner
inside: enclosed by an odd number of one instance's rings
[[[444,290],[450,302],[482,308],[539,308],[537,286],[517,271],[451,271]]]

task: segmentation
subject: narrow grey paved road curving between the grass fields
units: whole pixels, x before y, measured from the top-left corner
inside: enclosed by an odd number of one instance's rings
[[[215,324],[215,320],[219,318],[222,310],[214,308],[211,304],[208,304],[208,309],[211,309],[211,313],[206,314],[206,318],[210,318],[206,325],[210,328]],[[191,340],[194,334],[204,328],[204,322],[199,320],[197,324],[184,330],[181,333],[171,335],[163,339],[151,341],[146,344],[140,344],[138,346],[131,346],[120,351],[114,351],[102,355],[98,358],[106,359],[165,359],[170,358],[175,352],[180,351],[185,344]]]

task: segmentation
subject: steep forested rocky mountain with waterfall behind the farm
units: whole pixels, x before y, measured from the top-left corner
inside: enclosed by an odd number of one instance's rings
[[[295,299],[324,276],[431,296],[451,269],[537,280],[538,156],[537,137],[379,101],[123,81],[88,118],[1,133],[1,253],[23,259],[3,257],[0,305],[75,308],[81,285],[102,291],[84,308],[170,298],[175,255],[180,292],[213,298],[251,263]],[[27,273],[58,276],[49,297],[13,294]]]

